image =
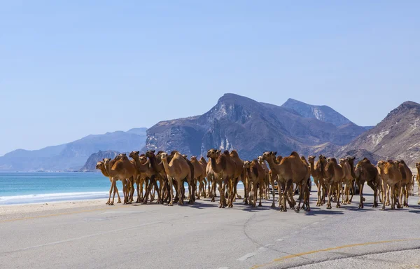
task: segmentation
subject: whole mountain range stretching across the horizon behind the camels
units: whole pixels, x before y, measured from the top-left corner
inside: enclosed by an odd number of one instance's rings
[[[92,171],[97,160],[119,152],[177,149],[205,156],[210,148],[236,149],[243,159],[263,151],[288,156],[356,156],[420,159],[420,104],[404,102],[376,126],[358,126],[329,106],[288,99],[276,106],[225,94],[200,116],[164,120],[151,128],[89,135],[36,151],[18,149],[0,157],[0,171]]]

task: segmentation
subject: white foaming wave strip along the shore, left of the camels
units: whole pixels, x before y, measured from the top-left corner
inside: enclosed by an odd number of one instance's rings
[[[120,192],[120,195],[123,195],[123,193]],[[109,191],[85,193],[43,193],[15,196],[0,196],[0,205],[29,204],[37,202],[55,202],[67,200],[90,200],[108,197]]]

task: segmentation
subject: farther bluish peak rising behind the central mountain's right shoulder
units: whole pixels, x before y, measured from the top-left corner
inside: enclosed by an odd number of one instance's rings
[[[324,121],[325,123],[332,123],[335,126],[341,126],[351,123],[351,121],[342,116],[330,106],[316,106],[313,104],[305,104],[304,102],[297,101],[289,98],[281,107],[296,111],[304,118],[316,118]]]

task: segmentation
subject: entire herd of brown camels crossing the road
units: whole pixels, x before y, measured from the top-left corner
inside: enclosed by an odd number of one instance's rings
[[[173,205],[178,202],[183,205],[184,200],[193,204],[196,199],[211,198],[215,202],[219,195],[219,207],[233,207],[236,199],[241,199],[237,193],[237,184],[244,184],[244,203],[255,207],[262,205],[262,199],[270,199],[275,207],[276,190],[279,193],[279,207],[281,211],[289,209],[309,211],[309,193],[311,177],[317,186],[316,206],[326,205],[331,209],[331,203],[337,202],[336,207],[350,204],[355,193],[355,186],[359,188],[359,208],[363,208],[363,186],[365,183],[374,192],[372,207],[382,202],[382,209],[408,207],[408,196],[414,193],[414,177],[403,160],[381,160],[377,166],[370,160],[363,158],[356,167],[354,157],[326,158],[325,156],[299,156],[293,151],[290,156],[276,156],[276,152],[267,151],[255,160],[241,160],[237,151],[221,151],[210,149],[207,151],[208,161],[198,159],[172,151],[132,151],[129,156],[119,154],[113,160],[105,158],[99,161],[96,168],[105,177],[109,177],[111,188],[106,204],[113,205],[116,194],[121,202],[116,181],[123,183],[124,203],[136,202],[147,204],[148,198],[158,203]],[[416,163],[420,174],[420,163]],[[416,177],[419,186],[419,177]],[[184,184],[188,185],[188,197]],[[344,185],[344,188],[342,187]],[[136,189],[134,189],[136,186]],[[174,194],[175,190],[175,194]],[[218,193],[217,193],[218,191]],[[299,202],[294,199],[299,191]],[[418,190],[420,191],[420,189]],[[111,200],[112,196],[112,200]],[[342,202],[340,203],[340,198]],[[302,207],[301,207],[302,204]],[[420,200],[419,200],[420,204]]]

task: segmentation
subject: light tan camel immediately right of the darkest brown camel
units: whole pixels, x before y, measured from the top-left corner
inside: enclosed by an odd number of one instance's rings
[[[402,175],[398,169],[398,163],[393,162],[393,160],[380,160],[377,166],[381,170],[381,178],[384,186],[382,191],[386,191],[386,196],[390,195],[391,192],[391,209],[395,209],[395,201],[397,203],[397,208],[401,208],[400,201],[398,200],[398,193],[401,186]],[[384,201],[381,210],[385,210],[385,205],[386,202]]]

